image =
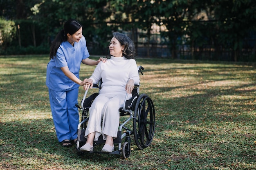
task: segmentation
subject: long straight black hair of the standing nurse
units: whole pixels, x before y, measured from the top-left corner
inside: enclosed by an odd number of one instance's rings
[[[57,50],[60,47],[61,43],[63,41],[67,41],[67,34],[73,35],[81,27],[82,25],[74,19],[70,19],[67,22],[65,22],[63,26],[63,30],[61,30],[56,35],[56,38],[52,42],[52,45],[50,47],[50,59],[53,59],[53,57],[56,55]]]

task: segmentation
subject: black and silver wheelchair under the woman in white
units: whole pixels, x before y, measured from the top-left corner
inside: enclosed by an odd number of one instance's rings
[[[143,75],[142,71],[144,68],[138,66],[138,73]],[[93,88],[101,89],[101,81],[99,84],[94,84]],[[86,142],[85,129],[90,118],[89,108],[97,97],[99,93],[94,93],[86,98],[88,91],[85,91],[83,99],[81,100],[81,107],[76,104],[76,107],[82,110],[81,122],[77,127],[77,143],[76,143],[76,153],[78,156],[87,153],[104,153],[104,154],[114,154],[122,155],[124,159],[130,157],[131,152],[131,138],[130,135],[134,136],[135,143],[139,150],[143,150],[148,147],[153,141],[155,133],[155,108],[152,100],[148,95],[139,95],[139,85],[135,84],[132,90],[132,98],[127,100],[128,94],[124,100],[123,107],[119,108],[120,118],[124,116],[124,120],[119,123],[119,130],[117,132],[117,138],[114,139],[114,144],[118,144],[118,149],[113,152],[99,152],[99,151],[80,151],[81,146]],[[125,125],[132,121],[129,127]],[[123,144],[122,144],[122,141]],[[103,144],[105,141],[102,138],[102,134],[97,142],[94,142],[94,146]],[[95,148],[95,147],[94,147]],[[115,146],[115,148],[117,148]]]

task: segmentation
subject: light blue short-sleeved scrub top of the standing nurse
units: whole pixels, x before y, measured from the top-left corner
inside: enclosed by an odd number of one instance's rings
[[[81,62],[89,56],[84,37],[79,42],[74,42],[74,46],[67,41],[62,42],[56,56],[47,65],[46,86],[54,91],[69,91],[78,88],[79,84],[65,76],[61,67],[68,66],[69,70],[79,78]]]

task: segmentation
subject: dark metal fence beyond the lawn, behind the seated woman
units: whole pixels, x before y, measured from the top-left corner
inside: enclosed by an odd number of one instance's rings
[[[146,31],[140,29],[133,29],[123,33],[128,35],[135,43],[136,51],[139,57],[173,58],[169,44],[170,42],[168,38],[161,36],[160,31],[152,31],[150,35],[147,35]],[[242,51],[239,51],[240,60],[251,60],[250,57],[255,58],[255,42],[256,33],[250,32],[249,36],[245,38],[243,42]],[[94,53],[103,53],[103,55],[108,53],[108,48],[97,49],[97,44],[88,44],[88,46],[91,51],[94,51]],[[234,60],[234,51],[232,49],[225,49],[223,46],[219,46],[218,49],[215,49],[211,41],[203,46],[197,46],[197,44],[191,46],[190,44],[183,42],[181,44],[177,44],[175,49],[176,59],[220,61]]]

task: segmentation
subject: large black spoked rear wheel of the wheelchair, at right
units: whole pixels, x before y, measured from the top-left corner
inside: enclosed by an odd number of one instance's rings
[[[148,147],[155,132],[155,108],[148,95],[141,94],[137,99],[133,119],[135,142],[139,149]]]

